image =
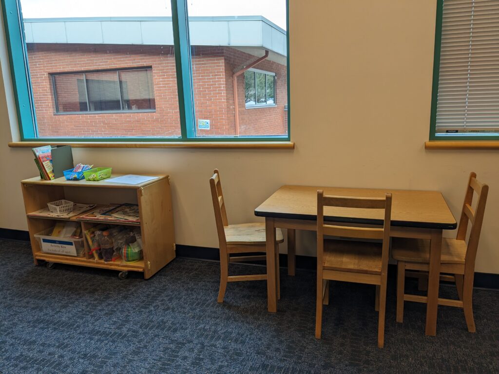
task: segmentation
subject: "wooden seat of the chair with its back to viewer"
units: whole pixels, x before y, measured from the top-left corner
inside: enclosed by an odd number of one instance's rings
[[[365,274],[381,274],[382,244],[324,240],[323,268]]]

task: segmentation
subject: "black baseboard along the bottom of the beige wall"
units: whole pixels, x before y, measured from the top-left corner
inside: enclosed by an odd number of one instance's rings
[[[29,241],[29,234],[23,230],[12,230],[8,228],[0,228],[0,239],[7,240],[24,240]],[[220,261],[219,249],[208,247],[197,247],[193,245],[176,245],[178,257],[195,258],[200,260]],[[264,264],[263,261],[255,261],[255,264]],[[287,255],[279,254],[279,264],[282,267],[287,266]],[[296,256],[296,268],[303,270],[315,270],[317,267],[317,259],[312,256]],[[389,273],[395,274],[395,265],[390,265]],[[499,274],[478,273],[475,272],[474,286],[479,288],[499,289]]]

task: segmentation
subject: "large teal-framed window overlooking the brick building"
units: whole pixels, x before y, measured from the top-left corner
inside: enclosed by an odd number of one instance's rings
[[[22,140],[289,140],[286,0],[0,1]]]

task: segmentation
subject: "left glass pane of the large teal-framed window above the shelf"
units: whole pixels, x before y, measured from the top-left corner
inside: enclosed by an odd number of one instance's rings
[[[180,137],[169,0],[20,1],[39,137]]]

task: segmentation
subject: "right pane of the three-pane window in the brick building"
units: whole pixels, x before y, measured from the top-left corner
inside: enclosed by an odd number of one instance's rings
[[[155,109],[152,70],[120,71],[124,110]]]

